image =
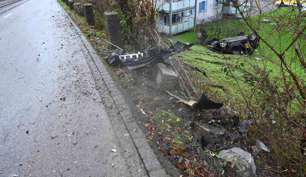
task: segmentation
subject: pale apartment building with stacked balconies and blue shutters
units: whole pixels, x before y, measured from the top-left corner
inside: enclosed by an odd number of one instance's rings
[[[222,7],[216,0],[157,0],[157,3],[159,32],[166,35],[181,33],[195,28],[196,24],[211,21]]]

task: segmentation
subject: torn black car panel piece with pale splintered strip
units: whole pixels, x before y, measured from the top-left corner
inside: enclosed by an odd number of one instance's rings
[[[174,98],[177,98],[179,101],[178,103],[183,103],[187,106],[189,106],[192,109],[195,110],[212,110],[212,109],[219,109],[223,106],[223,103],[217,103],[217,102],[213,102],[211,101],[211,99],[208,99],[206,94],[202,94],[201,99],[196,102],[196,101],[187,101],[184,98],[181,98],[171,92],[169,92],[168,90],[166,90],[166,92],[168,94],[170,94],[171,96],[173,96]]]

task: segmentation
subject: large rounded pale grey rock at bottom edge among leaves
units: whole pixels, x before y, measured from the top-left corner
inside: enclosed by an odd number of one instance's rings
[[[254,177],[256,175],[256,166],[251,154],[240,148],[231,148],[223,150],[218,155],[223,160],[234,163],[239,176]]]

